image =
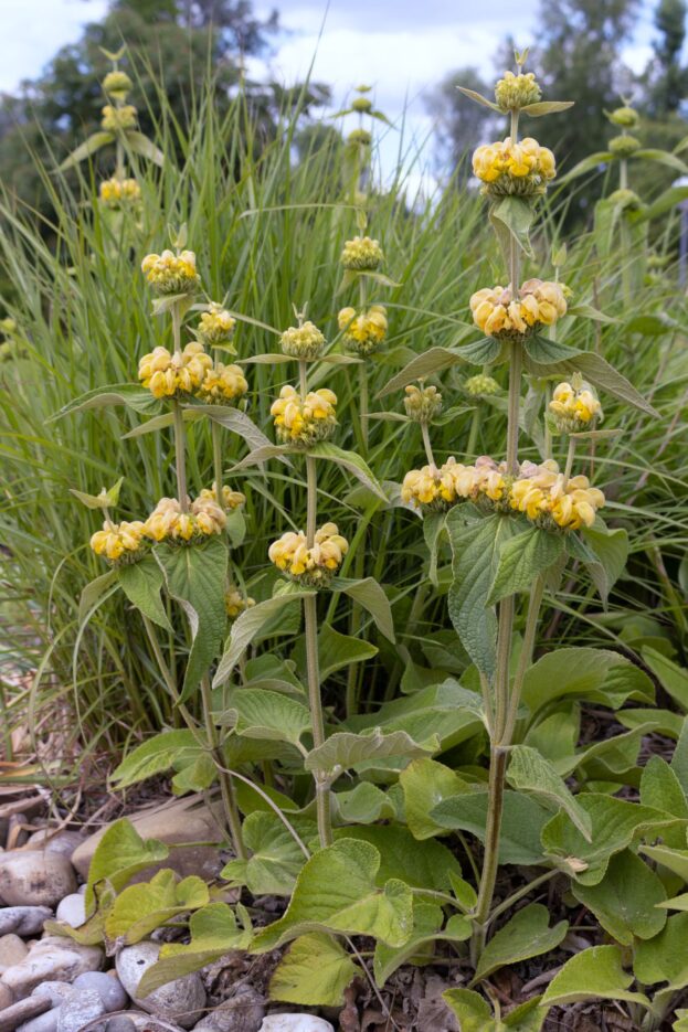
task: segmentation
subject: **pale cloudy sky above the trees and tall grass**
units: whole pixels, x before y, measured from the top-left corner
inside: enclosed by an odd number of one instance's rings
[[[22,78],[39,75],[55,51],[78,39],[82,25],[98,20],[107,6],[107,0],[0,0],[0,91],[11,92]],[[352,86],[369,83],[390,118],[399,119],[406,109],[407,129],[422,140],[432,128],[423,94],[461,66],[491,72],[495,51],[509,33],[528,45],[537,35],[539,0],[254,0],[257,13],[273,6],[283,29],[267,62],[251,62],[253,75],[269,72],[289,84],[313,63],[314,78],[332,86],[337,106]],[[650,54],[655,6],[644,0],[635,40],[624,55],[637,71]],[[390,136],[390,164],[395,146]]]

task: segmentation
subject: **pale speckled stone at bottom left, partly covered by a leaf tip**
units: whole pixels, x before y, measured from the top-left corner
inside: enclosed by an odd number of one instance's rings
[[[159,954],[159,944],[150,940],[125,947],[117,956],[119,981],[141,1010],[173,1021],[182,1029],[191,1029],[203,1017],[207,999],[203,982],[197,972],[177,978],[147,997],[137,996],[142,976],[157,961]]]

